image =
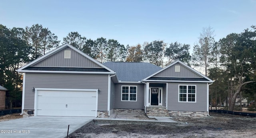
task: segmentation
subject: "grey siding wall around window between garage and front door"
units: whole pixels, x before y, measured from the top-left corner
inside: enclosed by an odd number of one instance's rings
[[[123,86],[137,86],[137,101],[121,101]],[[115,109],[144,109],[144,84],[117,83],[115,84]]]

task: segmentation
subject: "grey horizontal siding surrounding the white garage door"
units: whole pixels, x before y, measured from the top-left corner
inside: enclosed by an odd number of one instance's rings
[[[34,88],[100,89],[98,110],[108,110],[108,75],[26,73],[24,109],[34,110]]]

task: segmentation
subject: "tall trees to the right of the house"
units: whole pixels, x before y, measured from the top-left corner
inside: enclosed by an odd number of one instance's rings
[[[210,85],[212,106],[226,100],[229,110],[234,110],[239,94],[256,101],[256,26],[228,34],[219,41],[214,39],[211,27],[204,28],[194,45],[192,61],[215,81]]]

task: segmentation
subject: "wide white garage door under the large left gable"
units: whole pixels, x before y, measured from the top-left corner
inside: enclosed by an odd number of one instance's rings
[[[38,90],[38,116],[96,116],[96,91]]]

